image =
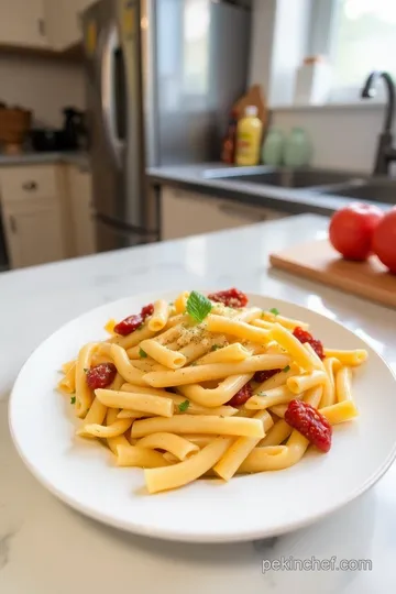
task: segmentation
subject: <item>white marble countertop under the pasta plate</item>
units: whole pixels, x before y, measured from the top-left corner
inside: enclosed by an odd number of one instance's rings
[[[79,314],[139,292],[235,285],[286,298],[342,320],[395,370],[394,310],[268,270],[271,251],[316,238],[326,226],[326,219],[301,216],[0,275],[1,594],[396,592],[395,465],[369,493],[309,528],[254,543],[178,544],[73,512],[30,475],[9,436],[8,395],[31,351]],[[370,559],[373,568],[262,573],[263,559],[289,556]]]

